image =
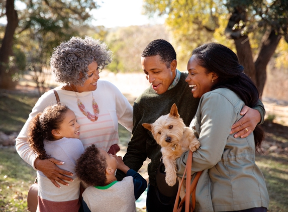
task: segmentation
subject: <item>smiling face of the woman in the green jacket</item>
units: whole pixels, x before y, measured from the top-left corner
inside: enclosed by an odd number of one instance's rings
[[[206,69],[200,66],[197,62],[197,58],[193,55],[187,64],[188,76],[185,81],[191,87],[193,97],[201,98],[201,96],[209,92],[213,85],[212,79],[216,79],[215,73],[206,73]]]

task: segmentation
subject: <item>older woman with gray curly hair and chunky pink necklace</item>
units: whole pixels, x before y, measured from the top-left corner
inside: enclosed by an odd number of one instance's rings
[[[35,104],[28,120],[16,139],[18,154],[34,169],[40,170],[52,183],[68,185],[73,170],[63,170],[57,165],[65,161],[50,158],[40,160],[30,149],[27,130],[32,118],[48,105],[65,103],[80,124],[80,140],[84,148],[97,144],[109,153],[116,154],[118,146],[118,123],[132,131],[132,107],[120,90],[109,81],[99,80],[99,72],[112,61],[112,52],[105,43],[86,36],[72,37],[54,49],[50,65],[56,81],[62,86],[44,93]],[[72,178],[68,177],[71,176]]]

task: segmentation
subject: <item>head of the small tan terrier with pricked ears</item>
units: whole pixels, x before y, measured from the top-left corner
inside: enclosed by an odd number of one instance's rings
[[[170,114],[161,116],[153,124],[142,124],[150,130],[161,147],[171,147],[181,141],[185,124],[179,117],[176,104],[172,105]]]

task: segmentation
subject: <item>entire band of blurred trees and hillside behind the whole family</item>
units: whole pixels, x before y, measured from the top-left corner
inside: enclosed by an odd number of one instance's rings
[[[0,0],[0,18],[6,16],[8,21],[0,26],[0,88],[15,89],[23,74],[29,73],[43,93],[49,86],[45,75],[53,48],[71,36],[84,35],[109,45],[114,58],[107,69],[114,73],[141,72],[141,52],[158,38],[172,43],[181,71],[196,47],[208,42],[228,46],[261,94],[267,72],[288,73],[287,0],[143,2],[144,14],[164,17],[165,24],[92,26],[92,14],[100,7],[93,0]]]

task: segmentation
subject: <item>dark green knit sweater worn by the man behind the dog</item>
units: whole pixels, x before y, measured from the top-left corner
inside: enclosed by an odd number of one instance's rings
[[[134,102],[133,105],[133,130],[127,153],[123,161],[131,169],[138,171],[148,157],[149,183],[155,185],[155,174],[160,164],[161,147],[154,140],[151,132],[145,129],[143,123],[154,123],[160,116],[170,113],[173,103],[176,104],[178,113],[186,126],[190,125],[196,114],[200,98],[194,98],[191,88],[185,82],[187,73],[181,72],[180,80],[176,86],[162,94],[157,94],[152,86],[147,88]],[[262,102],[260,102],[262,103]],[[260,104],[255,108],[264,117],[264,107]],[[117,171],[117,179],[122,180],[126,175]]]

